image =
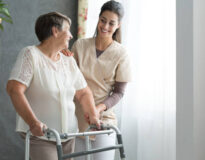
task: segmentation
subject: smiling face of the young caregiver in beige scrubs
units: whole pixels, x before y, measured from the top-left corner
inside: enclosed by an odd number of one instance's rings
[[[98,36],[101,38],[112,38],[112,35],[119,27],[118,15],[111,11],[104,11],[98,21]]]

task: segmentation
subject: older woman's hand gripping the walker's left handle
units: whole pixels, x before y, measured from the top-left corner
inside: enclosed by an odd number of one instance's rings
[[[30,131],[33,136],[43,136],[45,129],[47,129],[47,126],[41,121],[36,121],[30,126]]]

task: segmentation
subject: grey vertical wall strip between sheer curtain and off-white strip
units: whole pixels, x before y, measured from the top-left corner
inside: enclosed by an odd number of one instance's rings
[[[177,0],[176,12],[176,160],[194,160],[193,0]]]

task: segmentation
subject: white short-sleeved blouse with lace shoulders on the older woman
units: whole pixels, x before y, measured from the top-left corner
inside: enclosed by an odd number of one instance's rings
[[[32,110],[49,128],[60,133],[77,132],[73,99],[76,90],[87,84],[74,58],[59,55],[60,59],[54,62],[36,46],[23,48],[9,80],[28,87],[25,95]],[[16,130],[28,130],[28,125],[18,115]]]

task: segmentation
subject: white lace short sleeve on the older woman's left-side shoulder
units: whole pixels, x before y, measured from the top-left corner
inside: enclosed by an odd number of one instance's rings
[[[29,48],[20,51],[12,68],[9,80],[16,80],[27,87],[33,78],[33,60]]]

